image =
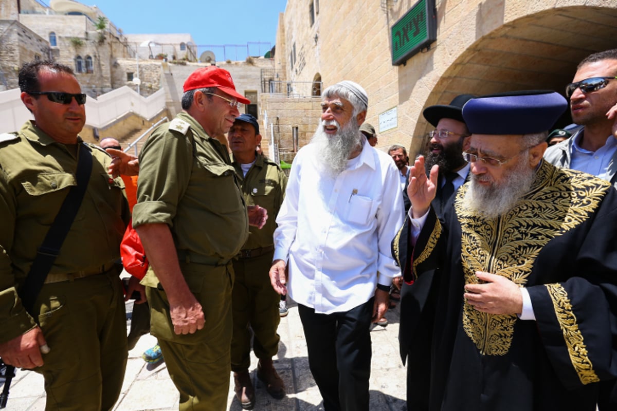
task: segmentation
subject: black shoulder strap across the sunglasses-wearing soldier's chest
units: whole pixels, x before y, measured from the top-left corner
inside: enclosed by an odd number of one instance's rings
[[[75,216],[77,216],[77,211],[81,206],[81,200],[83,200],[86,187],[88,187],[88,181],[92,173],[92,155],[85,144],[79,145],[78,155],[79,160],[77,161],[76,173],[77,185],[71,187],[62,206],[60,206],[60,211],[58,211],[56,219],[49,228],[43,240],[43,245],[38,248],[35,261],[32,262],[30,272],[28,272],[28,277],[26,277],[26,281],[20,289],[19,294],[22,298],[23,307],[30,314],[33,314],[32,309],[36,297],[41,291],[41,288],[43,288],[45,278],[49,274],[51,266],[60,253],[62,243],[64,243],[68,230],[70,230],[73,220]]]

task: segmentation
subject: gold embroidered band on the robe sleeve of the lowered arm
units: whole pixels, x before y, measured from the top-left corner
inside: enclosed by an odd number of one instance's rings
[[[576,324],[576,315],[572,312],[572,304],[567,291],[560,284],[547,284],[546,288],[553,301],[555,314],[557,314],[559,327],[563,332],[563,340],[566,341],[566,346],[568,346],[570,361],[574,370],[581,379],[581,383],[597,383],[600,378],[595,375],[594,367],[589,356],[587,356],[587,346],[582,340],[581,331]]]

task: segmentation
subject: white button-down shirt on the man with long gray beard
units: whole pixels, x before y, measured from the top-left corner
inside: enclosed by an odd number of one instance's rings
[[[276,218],[274,259],[288,261],[288,291],[297,303],[331,314],[349,311],[400,273],[391,242],[402,225],[399,170],[365,141],[347,169],[320,169],[315,145],[296,155]],[[378,278],[379,272],[379,278]]]

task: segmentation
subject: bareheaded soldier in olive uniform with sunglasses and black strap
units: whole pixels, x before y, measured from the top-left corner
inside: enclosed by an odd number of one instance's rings
[[[107,174],[109,155],[78,136],[86,95],[70,67],[27,63],[19,86],[35,120],[0,135],[0,356],[44,376],[46,410],[110,410],[127,357],[114,264],[130,217],[124,186]],[[93,160],[86,192],[31,316],[20,292],[82,155]]]

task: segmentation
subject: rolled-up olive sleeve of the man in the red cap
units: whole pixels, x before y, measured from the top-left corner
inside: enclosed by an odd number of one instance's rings
[[[166,125],[163,127],[152,133],[139,154],[133,227],[141,224],[172,226],[180,198],[189,184],[193,166],[191,139],[167,131]]]

